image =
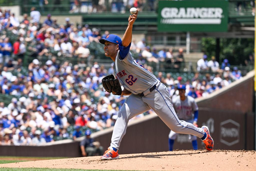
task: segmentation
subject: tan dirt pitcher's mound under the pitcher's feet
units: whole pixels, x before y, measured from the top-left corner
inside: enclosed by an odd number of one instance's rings
[[[120,155],[117,160],[80,157],[0,164],[0,167],[46,167],[108,170],[254,170],[255,151],[176,150],[157,153]]]

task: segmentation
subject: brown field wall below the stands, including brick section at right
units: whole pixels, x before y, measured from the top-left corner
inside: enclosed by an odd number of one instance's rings
[[[208,100],[198,102],[198,126],[207,125],[215,149],[254,149],[252,113],[253,78]],[[170,129],[156,117],[127,128],[119,154],[168,151]],[[247,136],[246,136],[247,135]],[[111,143],[112,132],[96,137],[104,149]],[[204,144],[198,138],[198,147]],[[188,136],[179,134],[174,149],[192,149]],[[80,157],[79,142],[52,146],[0,146],[1,156]]]

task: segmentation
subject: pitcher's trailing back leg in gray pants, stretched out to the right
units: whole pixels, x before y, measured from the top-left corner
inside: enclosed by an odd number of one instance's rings
[[[171,99],[168,89],[161,83],[157,88],[143,98],[146,102],[163,120],[163,122],[174,132],[180,134],[191,134],[199,138],[204,137],[205,133],[202,128],[197,128],[193,124],[179,120]]]

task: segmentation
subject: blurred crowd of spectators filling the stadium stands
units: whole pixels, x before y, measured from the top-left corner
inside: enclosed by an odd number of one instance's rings
[[[87,58],[92,55],[87,47],[106,37],[107,31],[100,35],[100,30],[91,30],[88,25],[75,27],[69,18],[66,18],[66,24],[58,25],[50,15],[44,24],[39,24],[38,13],[30,14],[32,21],[24,15],[22,22],[8,10],[0,14],[0,91],[13,96],[8,106],[0,103],[0,145],[39,145],[76,139],[86,130],[98,131],[115,124],[117,113],[127,97],[114,96],[103,89],[101,79],[113,74],[113,63],[106,69],[97,62],[89,67],[84,63],[72,65],[58,60],[61,55]],[[13,42],[6,32],[15,37]],[[23,59],[28,51],[34,59],[26,68]],[[179,68],[184,59],[183,49],[179,49],[177,55],[173,55],[172,49],[157,52],[152,48],[151,51],[145,39],[132,42],[131,51],[140,54],[138,62],[152,73],[147,62],[166,61]],[[14,56],[18,56],[15,62]],[[47,56],[49,60],[39,61],[40,56]],[[206,59],[204,55],[198,61],[197,70],[211,68],[215,74],[198,72],[191,79],[162,72],[156,76],[168,87],[171,97],[178,95],[179,84],[186,84],[187,94],[194,98],[206,97],[241,78],[237,68],[231,71],[228,61],[224,60],[219,68],[214,57],[209,62]],[[27,72],[21,72],[23,69]]]

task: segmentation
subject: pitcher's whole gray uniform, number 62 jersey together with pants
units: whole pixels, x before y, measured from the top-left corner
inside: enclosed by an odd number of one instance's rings
[[[119,149],[128,121],[150,109],[154,110],[171,130],[181,134],[195,135],[199,138],[204,136],[205,133],[202,128],[197,128],[191,123],[178,119],[167,87],[157,80],[154,74],[137,63],[130,52],[123,60],[119,59],[118,52],[114,65],[114,74],[125,89],[133,94],[125,100],[118,112],[110,147]],[[154,84],[156,84],[156,88],[151,92],[147,91]],[[138,94],[144,91],[148,92],[144,97]]]

